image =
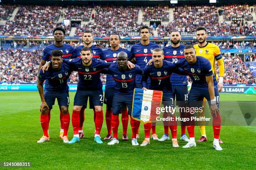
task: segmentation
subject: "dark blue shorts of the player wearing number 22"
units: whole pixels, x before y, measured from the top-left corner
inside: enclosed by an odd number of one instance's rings
[[[94,106],[102,106],[103,104],[103,92],[101,90],[77,90],[74,97],[74,106],[87,107],[88,97],[92,97]]]

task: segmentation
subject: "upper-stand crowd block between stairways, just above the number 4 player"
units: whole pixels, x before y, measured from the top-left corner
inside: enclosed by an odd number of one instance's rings
[[[143,7],[143,21],[150,20],[169,21],[169,6]]]

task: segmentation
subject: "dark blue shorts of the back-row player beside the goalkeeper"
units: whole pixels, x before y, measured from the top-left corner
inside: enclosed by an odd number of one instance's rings
[[[188,97],[187,85],[172,85],[172,92],[174,94],[174,100],[176,97],[176,105],[184,105]]]

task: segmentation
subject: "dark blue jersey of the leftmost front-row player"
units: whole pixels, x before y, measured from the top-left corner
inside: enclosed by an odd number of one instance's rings
[[[41,82],[47,80],[44,87],[45,91],[68,92],[69,86],[67,85],[67,79],[69,78],[71,72],[72,69],[70,69],[69,65],[65,63],[61,64],[61,70],[59,71],[54,70],[51,64],[48,71],[43,72],[43,70],[40,70],[38,79]]]

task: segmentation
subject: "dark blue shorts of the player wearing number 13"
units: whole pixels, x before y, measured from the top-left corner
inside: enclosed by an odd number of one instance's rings
[[[127,105],[128,115],[131,115],[132,104],[133,104],[133,94],[131,95],[114,94],[113,103],[112,103],[113,115],[118,115],[119,113],[121,113],[123,105]]]

